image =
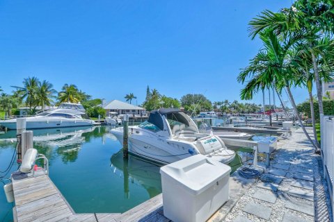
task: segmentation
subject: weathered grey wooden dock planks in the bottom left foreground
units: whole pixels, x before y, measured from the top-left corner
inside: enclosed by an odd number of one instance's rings
[[[123,214],[76,214],[49,176],[15,180],[13,190],[14,221],[166,221],[162,213],[162,195],[158,195]],[[169,220],[167,220],[169,221]]]

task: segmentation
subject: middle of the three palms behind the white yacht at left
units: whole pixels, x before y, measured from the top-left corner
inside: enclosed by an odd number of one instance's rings
[[[38,89],[36,90],[36,101],[37,104],[44,110],[45,105],[51,105],[54,101],[52,99],[56,98],[54,96],[56,90],[54,90],[54,85],[49,83],[47,80],[43,80],[42,83],[38,82]]]

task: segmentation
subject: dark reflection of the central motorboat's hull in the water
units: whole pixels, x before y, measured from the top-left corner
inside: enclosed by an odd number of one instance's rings
[[[124,194],[130,196],[129,181],[140,185],[148,191],[150,198],[161,193],[160,167],[145,160],[129,155],[128,160],[123,159],[123,151],[120,150],[111,156],[113,173],[122,173],[124,178]]]

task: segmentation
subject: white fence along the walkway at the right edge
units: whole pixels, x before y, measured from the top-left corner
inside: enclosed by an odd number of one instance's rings
[[[332,212],[334,212],[333,178],[334,178],[334,117],[321,115],[321,155],[324,162],[324,177],[331,196]]]

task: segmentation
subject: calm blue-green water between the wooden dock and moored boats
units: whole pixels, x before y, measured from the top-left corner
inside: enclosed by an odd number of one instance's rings
[[[34,147],[49,159],[49,176],[75,212],[125,212],[161,193],[159,167],[129,156],[109,128],[33,130]],[[0,171],[15,150],[16,131],[0,134]],[[11,138],[11,139],[10,139]],[[17,170],[15,163],[11,172]],[[0,173],[0,177],[3,173]],[[8,178],[10,173],[8,173]],[[0,188],[0,221],[12,221],[12,205]]]

